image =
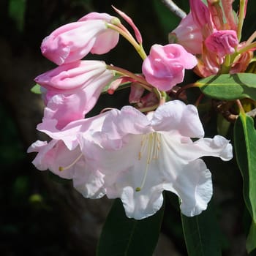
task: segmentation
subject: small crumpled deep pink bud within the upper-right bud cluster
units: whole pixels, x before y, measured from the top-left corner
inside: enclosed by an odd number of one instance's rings
[[[214,31],[205,40],[206,48],[219,57],[235,52],[235,47],[238,45],[238,38],[236,31],[233,30],[219,30]]]

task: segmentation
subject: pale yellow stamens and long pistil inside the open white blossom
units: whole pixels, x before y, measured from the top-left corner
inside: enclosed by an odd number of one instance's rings
[[[139,192],[145,184],[146,176],[148,174],[148,167],[151,164],[151,161],[158,159],[160,144],[161,134],[157,132],[152,132],[147,135],[143,135],[138,159],[142,159],[142,157],[146,154],[146,170],[144,172],[143,180],[141,181],[140,187],[136,187],[135,189],[136,192]]]

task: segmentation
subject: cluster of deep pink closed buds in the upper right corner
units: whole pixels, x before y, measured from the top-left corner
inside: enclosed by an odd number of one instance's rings
[[[240,17],[232,2],[207,0],[206,5],[201,0],[189,0],[189,14],[169,34],[169,42],[197,55],[195,72],[200,77],[244,72],[253,57],[254,48],[247,48],[252,38],[239,42],[247,1],[241,4]]]

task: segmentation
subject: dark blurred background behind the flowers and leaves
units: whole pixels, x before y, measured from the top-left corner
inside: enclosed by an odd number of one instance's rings
[[[176,3],[189,12],[188,1]],[[147,53],[154,43],[167,44],[167,33],[179,22],[160,0],[0,2],[0,255],[95,255],[111,201],[86,200],[72,189],[69,181],[60,184],[47,171],[36,170],[31,165],[34,154],[26,154],[26,149],[35,140],[44,140],[35,129],[42,119],[42,100],[30,89],[37,75],[55,67],[40,53],[42,39],[58,26],[91,11],[116,15],[111,4],[134,20]],[[255,1],[249,1],[245,39],[256,28],[255,15]],[[87,58],[103,59],[108,64],[141,72],[138,54],[124,39],[110,53]],[[102,96],[94,111],[124,104],[128,92]],[[216,134],[215,113],[211,113],[204,126],[208,135]],[[214,203],[223,233],[223,255],[246,255],[246,211],[235,159],[231,163],[216,159],[206,162],[214,178]],[[186,255],[179,213],[172,203],[167,206],[156,255]]]

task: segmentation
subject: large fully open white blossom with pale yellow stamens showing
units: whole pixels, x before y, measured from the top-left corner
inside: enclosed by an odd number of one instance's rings
[[[211,173],[200,157],[233,157],[232,146],[222,136],[203,138],[197,109],[180,101],[167,102],[147,116],[129,106],[111,110],[102,132],[105,135],[96,136],[104,138],[102,150],[92,146],[88,151],[83,143],[81,149],[97,155],[106,195],[120,197],[127,217],[135,219],[159,210],[163,190],[180,197],[183,214],[200,214],[212,195]]]

